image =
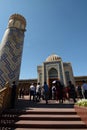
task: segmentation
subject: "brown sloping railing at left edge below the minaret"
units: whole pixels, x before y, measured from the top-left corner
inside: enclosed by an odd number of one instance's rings
[[[6,83],[5,87],[0,90],[0,113],[10,107],[11,88],[9,83]]]

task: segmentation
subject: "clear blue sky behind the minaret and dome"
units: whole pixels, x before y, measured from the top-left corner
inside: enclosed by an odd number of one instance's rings
[[[37,78],[53,53],[72,63],[74,76],[87,76],[87,0],[0,0],[0,41],[14,13],[27,21],[20,79]]]

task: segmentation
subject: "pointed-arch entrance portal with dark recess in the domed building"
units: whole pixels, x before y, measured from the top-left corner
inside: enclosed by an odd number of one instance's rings
[[[48,85],[52,87],[52,82],[58,80],[58,71],[55,68],[51,68],[48,71]]]

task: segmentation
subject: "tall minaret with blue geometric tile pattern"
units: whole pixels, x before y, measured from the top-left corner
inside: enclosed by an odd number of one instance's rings
[[[18,83],[23,51],[26,20],[13,14],[0,44],[0,88],[8,81]]]

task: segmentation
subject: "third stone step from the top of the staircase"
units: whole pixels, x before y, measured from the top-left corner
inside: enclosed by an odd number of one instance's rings
[[[2,124],[5,127],[5,124]],[[46,129],[82,129],[87,128],[83,121],[26,121],[20,120],[14,124],[8,123],[7,127],[15,128],[46,128]]]

